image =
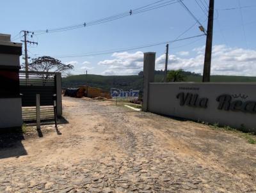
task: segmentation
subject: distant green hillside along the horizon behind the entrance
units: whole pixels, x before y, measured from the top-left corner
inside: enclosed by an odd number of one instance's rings
[[[200,82],[202,76],[188,75],[187,82]],[[243,77],[243,76],[225,76],[225,75],[212,75],[212,82],[256,82],[256,77]],[[155,82],[163,82],[163,75],[156,74]],[[97,88],[110,90],[111,88],[119,89],[140,89],[143,88],[143,80],[141,75],[72,75],[63,78],[63,88],[75,88],[81,85],[88,85]]]

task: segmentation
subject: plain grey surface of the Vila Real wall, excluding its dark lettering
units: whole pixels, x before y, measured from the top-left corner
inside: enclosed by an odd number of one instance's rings
[[[166,114],[195,121],[207,123],[219,123],[223,126],[234,128],[247,128],[248,131],[256,132],[256,105],[255,112],[225,111],[218,109],[219,102],[216,98],[227,94],[233,96],[247,96],[246,98],[234,98],[232,101],[256,102],[255,83],[195,83],[195,82],[172,82],[172,83],[149,83],[148,111],[157,114]],[[198,94],[199,98],[208,98],[207,107],[193,107],[180,105],[179,93]],[[253,104],[253,103],[251,103]],[[239,106],[239,105],[238,105]],[[238,107],[237,106],[237,107]],[[252,109],[248,107],[247,109]]]

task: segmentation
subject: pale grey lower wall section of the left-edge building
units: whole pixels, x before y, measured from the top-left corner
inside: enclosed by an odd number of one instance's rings
[[[21,126],[21,98],[0,98],[0,130]]]

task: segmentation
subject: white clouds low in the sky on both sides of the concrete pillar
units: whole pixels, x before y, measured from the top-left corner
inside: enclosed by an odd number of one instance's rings
[[[189,55],[184,53],[169,55],[168,69],[184,69],[191,72],[202,73],[204,68],[205,46],[197,47]],[[180,54],[182,53],[182,54]],[[187,53],[185,53],[186,55]],[[193,57],[192,57],[193,56]],[[143,70],[143,52],[122,52],[112,55],[113,59],[100,61],[107,70],[105,75],[131,75]],[[156,70],[163,70],[165,54],[156,58]],[[256,50],[228,47],[227,45],[214,45],[212,47],[212,75],[250,75],[256,72]]]

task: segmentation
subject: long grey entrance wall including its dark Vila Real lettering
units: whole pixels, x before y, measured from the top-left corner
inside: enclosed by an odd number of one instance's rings
[[[148,111],[256,132],[256,84],[150,83]]]

